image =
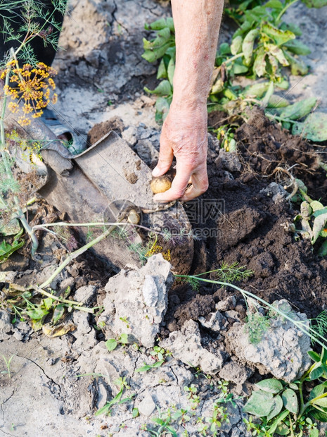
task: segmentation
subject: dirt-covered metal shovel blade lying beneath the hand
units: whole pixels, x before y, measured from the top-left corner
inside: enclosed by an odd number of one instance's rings
[[[147,229],[119,227],[94,247],[96,254],[112,266],[126,268],[139,267],[145,257],[162,252],[173,271],[188,273],[193,238],[186,212],[180,202],[155,211],[158,204],[153,202],[150,190],[150,168],[119,135],[111,131],[82,154],[68,155],[58,142],[44,151],[49,178],[40,194],[48,202],[66,211],[75,223],[117,221],[133,210],[141,226],[159,232],[149,239]],[[80,229],[86,235],[86,228]]]

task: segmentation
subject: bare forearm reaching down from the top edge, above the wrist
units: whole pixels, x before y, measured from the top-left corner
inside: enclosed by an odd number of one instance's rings
[[[177,50],[173,106],[206,103],[223,6],[224,0],[172,0]]]

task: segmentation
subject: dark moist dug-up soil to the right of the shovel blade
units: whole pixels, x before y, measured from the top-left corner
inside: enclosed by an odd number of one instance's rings
[[[238,262],[253,271],[253,276],[238,286],[268,302],[283,297],[295,309],[315,317],[326,307],[327,259],[319,258],[308,240],[296,240],[295,234],[285,229],[299,205],[273,202],[262,190],[273,181],[287,179],[284,173],[274,173],[276,167],[296,164],[293,175],[307,185],[313,199],[326,202],[326,172],[317,166],[314,145],[271,123],[259,109],[252,109],[249,115],[248,123],[236,131],[243,170],[227,172],[219,159],[208,163],[210,188],[203,199],[214,199],[224,205],[224,211],[217,225],[212,220],[196,223],[216,231],[212,234],[217,236],[198,242],[193,271],[199,272],[199,264],[200,271],[204,271],[203,266],[211,271],[223,261]],[[221,114],[217,118],[219,125]],[[213,116],[210,123],[217,126]],[[189,285],[177,285],[171,290],[167,329],[162,335],[180,328],[188,319],[206,316],[215,303],[231,293],[235,291],[217,286],[201,287],[196,293]]]

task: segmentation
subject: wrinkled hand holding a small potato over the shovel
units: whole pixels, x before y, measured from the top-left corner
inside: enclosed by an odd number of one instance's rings
[[[155,202],[183,201],[200,196],[207,190],[207,107],[180,109],[172,106],[162,126],[160,153],[153,176],[162,176],[177,161],[172,187],[155,195]],[[188,183],[191,187],[186,190]]]

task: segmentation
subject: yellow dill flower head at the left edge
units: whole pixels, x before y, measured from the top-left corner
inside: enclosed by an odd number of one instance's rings
[[[41,117],[43,109],[49,103],[55,104],[57,101],[57,94],[51,95],[56,88],[53,80],[56,70],[43,62],[37,63],[34,67],[25,63],[20,68],[15,61],[11,61],[6,67],[0,78],[4,79],[8,72],[10,73],[10,84],[4,87],[5,94],[11,98],[8,109],[18,113],[21,104],[23,114],[18,118],[18,123],[29,125],[30,116]]]

